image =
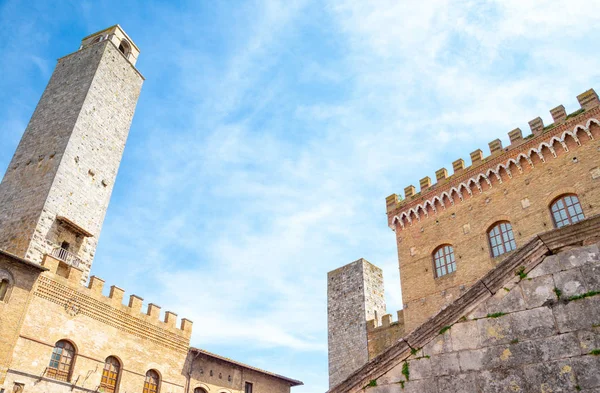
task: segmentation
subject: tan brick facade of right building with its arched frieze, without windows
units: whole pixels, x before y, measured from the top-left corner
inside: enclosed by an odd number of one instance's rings
[[[517,138],[483,160],[475,155],[471,167],[458,168],[432,186],[425,182],[420,194],[402,202],[396,195],[388,198],[407,331],[456,300],[506,257],[490,256],[487,231],[495,222],[511,223],[519,247],[553,227],[549,205],[561,194],[577,194],[586,217],[600,213],[600,108],[597,99],[580,102],[585,111],[531,138]],[[507,163],[507,169],[499,166]],[[457,270],[434,278],[432,253],[442,244],[454,247]]]

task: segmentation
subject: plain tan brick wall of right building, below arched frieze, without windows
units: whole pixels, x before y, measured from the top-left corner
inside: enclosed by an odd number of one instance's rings
[[[599,114],[596,107],[575,117],[567,126],[573,129],[580,124],[585,128],[587,121]],[[430,211],[420,221],[413,218],[411,225],[398,225],[396,238],[407,331],[456,300],[507,256],[490,256],[487,231],[493,223],[510,221],[518,247],[552,228],[549,204],[563,193],[579,196],[586,217],[600,213],[600,127],[592,123],[589,131],[594,139],[583,130],[577,133],[581,146],[567,136],[568,152],[555,142],[556,158],[545,148],[545,162],[533,154],[533,167],[523,160],[522,173],[513,164],[512,178],[501,170],[502,183],[491,175],[491,187],[482,181],[482,192],[472,186],[472,196],[463,191],[463,201],[455,195],[454,205],[447,202],[445,209],[438,206],[437,212]],[[546,137],[542,134],[538,138],[539,145]],[[388,212],[390,220],[405,209],[403,206]],[[435,279],[432,253],[445,243],[454,247],[457,270]]]

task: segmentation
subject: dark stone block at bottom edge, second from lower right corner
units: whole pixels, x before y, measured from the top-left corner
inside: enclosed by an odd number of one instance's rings
[[[528,392],[574,392],[577,385],[569,359],[530,364],[524,371]]]

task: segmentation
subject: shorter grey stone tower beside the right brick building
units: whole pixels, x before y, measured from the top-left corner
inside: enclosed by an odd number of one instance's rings
[[[327,273],[329,387],[369,361],[367,320],[385,312],[380,268],[361,258]]]

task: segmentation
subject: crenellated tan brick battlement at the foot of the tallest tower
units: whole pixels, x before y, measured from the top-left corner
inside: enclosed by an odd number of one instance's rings
[[[182,318],[177,326],[177,314],[149,303],[142,309],[144,299],[131,294],[123,304],[125,291],[116,285],[109,295],[103,290],[105,281],[91,276],[87,287],[81,286],[82,270],[46,255],[42,265],[48,269],[40,277],[36,295],[53,303],[65,305],[69,313],[83,314],[142,338],[148,338],[170,348],[187,351],[192,334],[192,321]]]

